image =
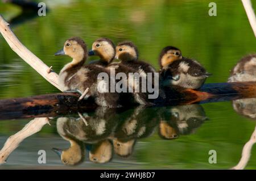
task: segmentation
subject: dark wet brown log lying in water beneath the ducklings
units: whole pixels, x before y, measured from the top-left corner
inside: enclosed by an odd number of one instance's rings
[[[209,83],[201,87],[200,90],[167,87],[165,91],[166,101],[158,103],[156,106],[256,98],[256,82]],[[0,120],[55,117],[69,113],[90,112],[97,108],[91,99],[80,102],[77,101],[78,99],[78,94],[59,93],[0,100]]]

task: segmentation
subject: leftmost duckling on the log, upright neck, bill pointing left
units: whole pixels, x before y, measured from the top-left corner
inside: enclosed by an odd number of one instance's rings
[[[118,102],[119,95],[106,90],[108,85],[106,85],[105,80],[98,80],[100,73],[106,73],[110,77],[109,71],[93,64],[84,65],[88,51],[85,42],[80,37],[72,37],[65,41],[64,48],[55,53],[56,56],[62,54],[73,58],[72,62],[65,65],[59,74],[59,84],[63,90],[78,92],[81,95],[79,100],[84,97],[88,99],[92,96],[98,106],[121,107]],[[101,83],[101,91],[98,91],[99,83]]]

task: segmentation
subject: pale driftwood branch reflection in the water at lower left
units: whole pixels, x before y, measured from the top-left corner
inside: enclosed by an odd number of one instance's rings
[[[5,163],[6,159],[19,146],[20,142],[32,134],[39,132],[47,123],[49,123],[49,119],[47,117],[35,118],[26,124],[21,131],[10,136],[6,140],[5,145],[3,145],[3,148],[0,150],[0,164]]]

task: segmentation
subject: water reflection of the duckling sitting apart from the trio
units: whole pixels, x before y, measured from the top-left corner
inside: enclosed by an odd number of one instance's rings
[[[165,108],[160,112],[159,136],[172,140],[179,134],[191,134],[199,128],[208,117],[199,104]]]

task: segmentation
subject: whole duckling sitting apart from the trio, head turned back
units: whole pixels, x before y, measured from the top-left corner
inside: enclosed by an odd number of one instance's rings
[[[163,48],[159,65],[159,77],[163,86],[199,89],[211,75],[199,62],[183,57],[180,49],[171,46]]]

